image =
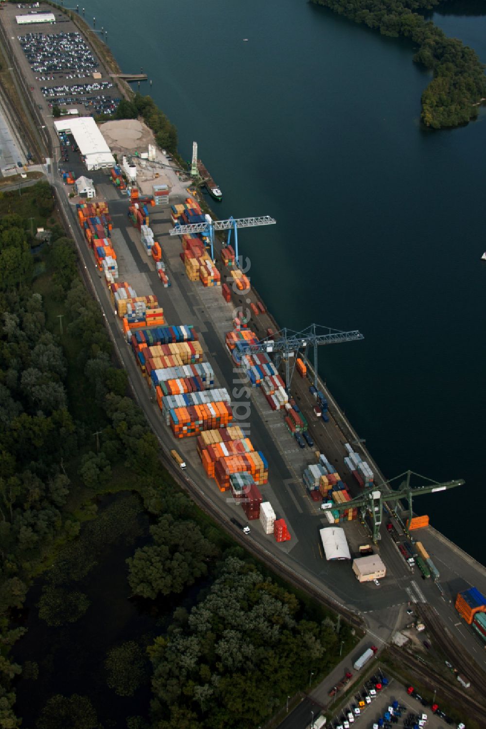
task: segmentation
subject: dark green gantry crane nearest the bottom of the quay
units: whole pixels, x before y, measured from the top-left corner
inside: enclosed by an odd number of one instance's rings
[[[418,476],[419,478],[426,480],[429,483],[425,483],[423,484],[423,486],[416,486],[412,488],[412,486],[410,486],[410,477],[412,475]],[[402,480],[400,486],[395,491],[390,488],[390,483],[392,483],[393,481],[397,481],[398,479]],[[431,478],[420,476],[419,474],[412,471],[406,471],[405,473],[401,473],[401,475],[396,476],[395,478],[391,478],[389,481],[385,481],[384,483],[379,484],[379,486],[372,486],[371,488],[369,488],[369,490],[367,490],[363,494],[360,494],[360,496],[356,496],[355,499],[351,499],[351,501],[349,502],[344,502],[344,504],[329,504],[329,508],[333,511],[339,512],[350,508],[358,508],[360,510],[363,521],[364,517],[366,516],[366,512],[368,512],[371,516],[371,522],[373,524],[373,541],[376,544],[376,542],[381,539],[379,529],[382,526],[384,504],[387,510],[394,513],[395,504],[401,501],[401,499],[407,499],[409,502],[409,515],[410,518],[412,518],[412,498],[414,496],[420,496],[421,494],[436,494],[438,491],[447,491],[447,489],[449,488],[463,486],[463,483],[465,482],[462,478],[459,478],[455,481],[437,483]],[[388,507],[388,504],[393,504],[393,507]]]

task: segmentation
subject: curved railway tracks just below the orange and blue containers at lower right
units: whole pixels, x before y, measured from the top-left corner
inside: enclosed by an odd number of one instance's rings
[[[436,609],[428,604],[417,603],[415,606],[428,628],[429,633],[439,645],[445,655],[450,657],[453,665],[461,674],[469,679],[471,687],[481,695],[486,685],[486,674],[471,657],[463,645],[452,635],[449,628],[441,622]]]

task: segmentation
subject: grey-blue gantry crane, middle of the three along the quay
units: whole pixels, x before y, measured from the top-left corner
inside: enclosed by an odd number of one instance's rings
[[[320,333],[326,330],[326,333]],[[323,327],[320,324],[310,324],[309,327],[301,332],[294,332],[290,329],[282,329],[272,338],[266,338],[256,344],[247,344],[239,342],[239,350],[247,354],[276,354],[276,366],[278,366],[282,357],[285,359],[285,384],[290,387],[290,357],[297,358],[298,351],[307,347],[314,347],[314,384],[317,387],[317,347],[323,344],[340,344],[342,342],[355,342],[364,339],[358,330],[351,332],[341,332],[331,329],[331,327]]]

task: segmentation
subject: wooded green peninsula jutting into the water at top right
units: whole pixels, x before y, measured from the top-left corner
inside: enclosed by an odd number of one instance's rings
[[[433,129],[455,127],[477,117],[486,98],[486,76],[476,52],[420,15],[440,0],[312,0],[385,36],[404,36],[418,46],[414,61],[433,71],[422,95],[421,118]]]

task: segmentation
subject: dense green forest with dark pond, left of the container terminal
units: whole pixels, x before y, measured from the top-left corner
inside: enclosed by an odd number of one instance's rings
[[[0,728],[258,726],[355,644],[163,469],[47,183],[0,193],[0,461]]]

